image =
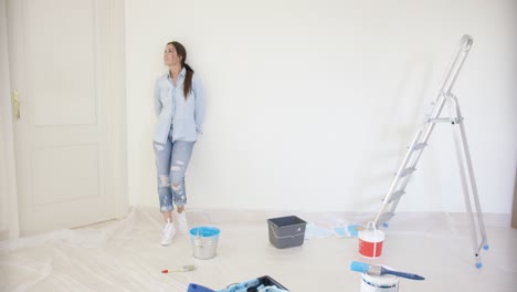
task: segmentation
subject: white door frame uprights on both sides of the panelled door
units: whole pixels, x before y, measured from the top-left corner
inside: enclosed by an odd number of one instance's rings
[[[105,191],[115,194],[114,213],[117,219],[120,219],[127,215],[129,209],[126,146],[125,3],[124,0],[108,1],[109,28],[106,29],[110,35],[109,74],[113,82],[107,95],[112,98],[104,101],[104,108],[109,111],[101,113],[103,121],[106,122],[102,133],[102,144],[105,147],[102,148],[106,159],[109,159],[109,169],[104,169],[103,173],[106,178]],[[0,0],[0,45],[2,45],[0,61],[2,63],[6,61],[4,64],[7,64],[0,66],[0,137],[2,137],[4,145],[0,147],[0,202],[8,202],[6,206],[8,213],[0,216],[0,227],[7,226],[7,230],[0,228],[0,240],[20,236],[6,10],[7,0]],[[3,210],[0,211],[3,213]],[[2,220],[7,220],[7,223]]]

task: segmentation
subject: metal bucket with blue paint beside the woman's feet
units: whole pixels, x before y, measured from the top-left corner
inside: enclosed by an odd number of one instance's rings
[[[219,228],[198,226],[191,228],[189,233],[194,258],[200,260],[208,260],[215,257],[219,243],[219,234],[221,233]]]

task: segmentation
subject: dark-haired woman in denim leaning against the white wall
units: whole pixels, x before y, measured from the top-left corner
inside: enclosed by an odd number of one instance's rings
[[[177,225],[188,232],[184,205],[187,192],[184,174],[204,115],[204,91],[193,70],[186,63],[187,51],[179,42],[169,42],[163,52],[163,63],[169,72],[156,81],[155,111],[158,117],[152,137],[158,174],[158,196],[165,227],[160,243],[172,242],[176,228],[172,223],[173,205]]]

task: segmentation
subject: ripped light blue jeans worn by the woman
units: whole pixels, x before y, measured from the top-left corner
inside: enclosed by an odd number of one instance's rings
[[[187,204],[184,173],[192,155],[196,142],[172,140],[172,131],[166,144],[154,142],[156,168],[158,174],[158,196],[160,211],[173,210],[172,202],[178,207]]]

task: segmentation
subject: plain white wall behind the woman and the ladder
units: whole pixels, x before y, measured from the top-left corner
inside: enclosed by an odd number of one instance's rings
[[[152,87],[182,42],[208,92],[189,207],[377,211],[464,33],[455,86],[483,210],[510,212],[517,1],[126,1],[131,205],[155,206]],[[400,211],[464,211],[440,125]]]

